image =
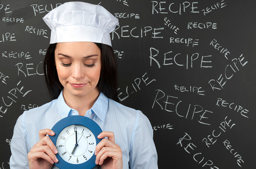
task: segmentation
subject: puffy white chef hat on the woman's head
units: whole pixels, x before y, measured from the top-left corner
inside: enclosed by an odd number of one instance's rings
[[[51,29],[51,43],[91,41],[111,45],[118,19],[101,5],[65,2],[47,13],[43,20]]]

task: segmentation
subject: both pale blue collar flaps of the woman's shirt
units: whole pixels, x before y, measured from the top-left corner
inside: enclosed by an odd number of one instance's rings
[[[69,112],[72,110],[70,108],[63,97],[63,90],[61,90],[58,98],[57,98],[57,107],[58,107],[58,113],[61,116],[61,118],[67,117]],[[93,112],[104,122],[105,121],[105,116],[107,113],[108,109],[108,97],[101,92],[97,100],[95,101],[93,107],[91,108]]]

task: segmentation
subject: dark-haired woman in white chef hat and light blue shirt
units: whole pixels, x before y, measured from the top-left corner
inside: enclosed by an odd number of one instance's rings
[[[96,146],[97,167],[157,168],[149,120],[117,102],[117,66],[109,33],[118,19],[100,5],[67,2],[44,20],[51,28],[44,70],[53,100],[18,118],[11,168],[55,168],[57,148],[47,134],[54,135],[49,128],[68,115],[93,119],[103,130],[98,138],[108,138]]]

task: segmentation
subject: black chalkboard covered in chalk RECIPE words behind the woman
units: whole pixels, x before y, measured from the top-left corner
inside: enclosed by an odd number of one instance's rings
[[[0,168],[24,110],[49,102],[42,17],[66,0],[0,0]],[[256,168],[255,0],[84,0],[111,33],[119,99],[149,118],[159,168]]]

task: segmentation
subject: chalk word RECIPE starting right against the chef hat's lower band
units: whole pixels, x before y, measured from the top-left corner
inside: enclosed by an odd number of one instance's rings
[[[147,36],[149,32],[151,32],[151,34],[153,34],[153,36],[151,36],[152,38],[163,38],[163,36],[160,36],[158,34],[161,33],[161,31],[159,30],[163,30],[163,27],[159,27],[159,28],[153,28],[151,26],[144,26],[144,27],[133,27],[130,28],[129,25],[126,26],[121,26],[121,32],[120,31],[120,25],[117,25],[115,30],[112,31],[112,40],[114,39],[115,34],[117,35],[118,39],[120,39],[121,37],[143,37],[143,36]],[[118,30],[118,31],[117,31]]]

